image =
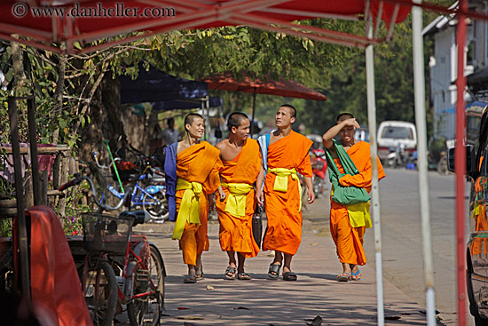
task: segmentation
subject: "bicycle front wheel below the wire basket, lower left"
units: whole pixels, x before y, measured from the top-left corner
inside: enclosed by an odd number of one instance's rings
[[[117,305],[117,279],[107,261],[83,266],[82,286],[94,326],[111,326]]]

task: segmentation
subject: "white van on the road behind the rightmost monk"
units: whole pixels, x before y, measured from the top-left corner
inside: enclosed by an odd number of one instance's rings
[[[378,157],[385,161],[391,150],[403,144],[405,155],[417,150],[417,131],[415,124],[405,121],[383,121],[378,127]]]

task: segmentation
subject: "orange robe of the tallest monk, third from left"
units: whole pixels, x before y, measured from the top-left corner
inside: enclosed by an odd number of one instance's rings
[[[273,168],[296,169],[311,177],[309,150],[311,139],[291,131],[268,147],[268,172],[264,179],[264,201],[268,227],[263,240],[263,250],[278,250],[295,255],[302,242],[302,210],[298,190],[300,180],[288,176],[287,192],[273,190],[276,175]]]

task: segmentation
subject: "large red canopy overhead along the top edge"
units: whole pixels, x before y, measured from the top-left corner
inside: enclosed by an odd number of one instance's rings
[[[55,52],[80,52],[79,42],[91,52],[169,30],[247,25],[322,42],[365,47],[385,37],[373,39],[347,33],[291,23],[313,18],[359,20],[374,17],[390,28],[404,20],[411,0],[403,4],[380,0],[3,0],[0,4],[0,38],[12,40],[12,34],[32,46]],[[122,34],[137,35],[120,38]],[[106,42],[89,45],[107,38]],[[51,43],[66,42],[67,50]]]

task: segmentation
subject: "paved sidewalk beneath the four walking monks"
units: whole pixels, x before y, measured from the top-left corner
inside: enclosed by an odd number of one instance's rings
[[[292,262],[296,282],[267,278],[272,251],[247,259],[251,281],[225,280],[228,258],[220,250],[218,224],[213,222],[209,225],[210,250],[202,258],[204,279],[184,284],[187,269],[177,241],[170,239],[172,223],[145,225],[136,231],[146,233],[164,259],[168,276],[163,325],[306,325],[318,315],[323,319],[321,325],[377,325],[374,269],[361,266],[362,280],[337,282],[341,267],[335,244],[310,220],[303,221],[303,241]],[[387,280],[383,280],[383,289],[386,325],[426,324],[421,306]]]

